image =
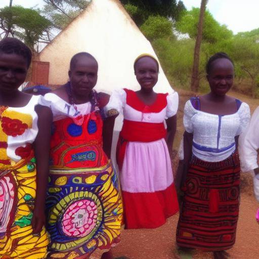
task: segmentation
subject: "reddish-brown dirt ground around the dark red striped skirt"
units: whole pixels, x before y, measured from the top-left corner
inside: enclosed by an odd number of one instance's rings
[[[259,257],[259,225],[255,212],[259,203],[250,193],[241,194],[240,214],[235,246],[229,250],[233,259],[257,259]],[[114,256],[130,259],[173,259],[177,258],[176,226],[178,214],[154,230],[124,230],[121,242],[113,249]],[[183,257],[184,258],[184,257]],[[212,258],[211,253],[196,251],[193,258]]]

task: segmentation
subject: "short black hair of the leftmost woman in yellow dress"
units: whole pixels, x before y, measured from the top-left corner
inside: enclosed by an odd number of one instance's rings
[[[27,61],[27,67],[29,68],[32,57],[31,50],[18,38],[3,38],[0,41],[0,53],[1,52],[5,54],[14,53],[24,57],[24,59]]]

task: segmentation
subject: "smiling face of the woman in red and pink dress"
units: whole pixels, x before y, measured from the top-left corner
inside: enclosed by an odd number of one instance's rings
[[[151,57],[142,57],[135,64],[135,75],[142,89],[150,91],[158,80],[158,66]]]

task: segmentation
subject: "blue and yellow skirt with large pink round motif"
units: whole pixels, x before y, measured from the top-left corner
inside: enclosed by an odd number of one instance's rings
[[[103,167],[51,169],[46,206],[48,258],[89,258],[119,241],[122,202],[110,161]]]

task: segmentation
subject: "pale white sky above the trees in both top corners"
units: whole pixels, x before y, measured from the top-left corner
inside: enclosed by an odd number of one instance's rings
[[[200,7],[201,0],[182,0],[188,10]],[[0,0],[0,8],[9,5],[9,0]],[[13,0],[13,5],[26,8],[44,5],[43,0]],[[207,9],[220,23],[226,24],[234,33],[259,28],[258,0],[208,0]]]

